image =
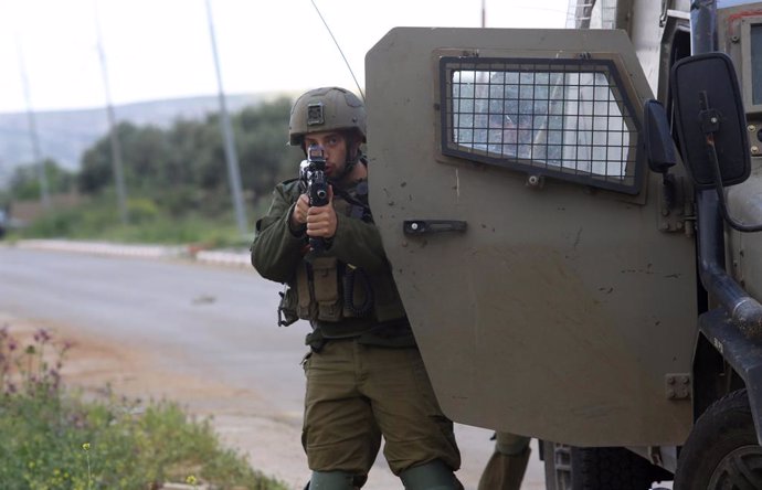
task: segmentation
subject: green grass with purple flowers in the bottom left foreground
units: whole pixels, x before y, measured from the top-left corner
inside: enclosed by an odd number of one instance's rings
[[[0,488],[158,489],[163,482],[285,490],[172,402],[84,400],[60,372],[66,343],[0,328]]]

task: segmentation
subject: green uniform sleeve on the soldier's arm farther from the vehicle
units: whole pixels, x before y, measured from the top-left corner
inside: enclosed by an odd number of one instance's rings
[[[298,192],[294,187],[278,184],[273,191],[273,202],[267,215],[256,222],[256,235],[252,243],[252,265],[260,275],[277,283],[294,277],[307,243],[304,231],[292,232],[289,217]]]

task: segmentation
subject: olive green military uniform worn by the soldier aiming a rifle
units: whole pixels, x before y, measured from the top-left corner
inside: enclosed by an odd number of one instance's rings
[[[367,206],[367,183],[334,184],[337,230],[319,254],[308,252],[304,230],[290,227],[301,192],[298,181],[276,187],[256,225],[252,264],[263,277],[287,285],[285,323],[298,317],[313,327],[303,430],[310,469],[361,480],[383,435],[384,456],[406,488],[458,488],[452,477],[461,465],[453,424],[415,345]],[[414,470],[427,464],[446,467],[452,484],[416,487]]]

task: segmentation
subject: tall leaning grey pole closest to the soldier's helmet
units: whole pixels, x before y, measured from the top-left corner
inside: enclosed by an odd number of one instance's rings
[[[209,21],[209,35],[212,42],[212,55],[214,56],[214,71],[216,73],[218,95],[220,99],[220,129],[225,149],[225,160],[227,161],[227,178],[232,191],[233,209],[235,210],[235,221],[239,224],[241,236],[247,233],[246,214],[243,206],[243,193],[241,191],[241,170],[239,168],[239,156],[233,143],[233,127],[230,124],[230,115],[225,104],[225,93],[222,87],[222,75],[220,74],[220,57],[216,52],[216,35],[214,34],[214,21],[212,19],[212,7],[209,0],[207,3],[207,20]]]

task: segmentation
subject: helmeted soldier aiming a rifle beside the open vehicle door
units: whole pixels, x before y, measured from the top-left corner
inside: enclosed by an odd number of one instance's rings
[[[324,150],[328,204],[310,206],[303,180],[278,184],[256,223],[252,264],[286,285],[281,323],[311,326],[301,435],[308,487],[362,487],[383,436],[406,489],[462,489],[453,423],[434,396],[368,207],[364,106],[342,88],[307,92],[292,109],[289,137],[305,153]]]

